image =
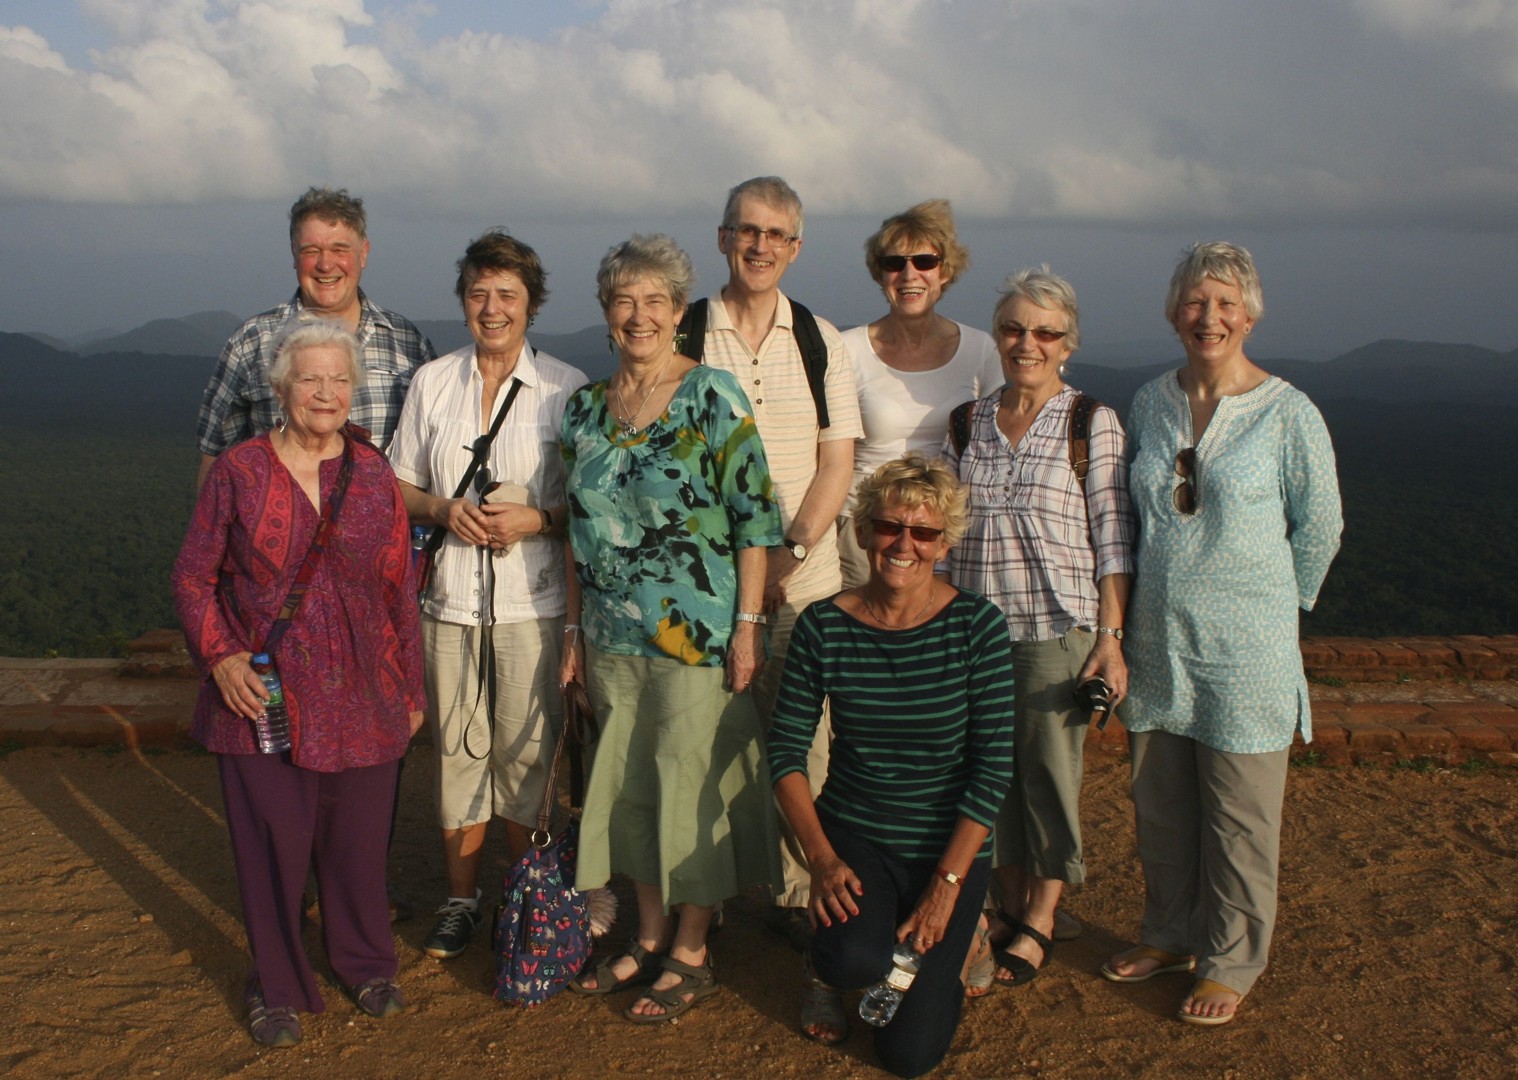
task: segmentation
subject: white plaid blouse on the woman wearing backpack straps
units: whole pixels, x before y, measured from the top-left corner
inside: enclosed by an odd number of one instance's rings
[[[1070,469],[1076,396],[1060,390],[1013,447],[996,427],[997,390],[975,403],[962,457],[944,441],[944,460],[970,486],[970,527],[949,553],[950,577],[1002,609],[1013,641],[1094,627],[1096,582],[1134,573],[1123,425],[1107,406],[1091,412],[1082,498]]]

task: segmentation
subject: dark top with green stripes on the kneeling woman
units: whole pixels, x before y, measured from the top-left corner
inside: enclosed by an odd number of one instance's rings
[[[961,591],[905,630],[832,600],[802,612],[770,729],[776,781],[806,772],[824,699],[833,741],[818,814],[905,860],[940,858],[961,816],[996,820],[1013,779],[1013,647],[990,600]]]

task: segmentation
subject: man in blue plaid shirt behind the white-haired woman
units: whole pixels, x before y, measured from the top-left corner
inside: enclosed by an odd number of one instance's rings
[[[269,386],[273,342],[299,314],[340,322],[358,336],[364,378],[354,387],[351,418],[369,430],[380,450],[389,445],[411,375],[436,352],[422,331],[370,304],[358,287],[369,261],[366,225],[363,199],[346,188],[313,187],[290,207],[299,287],[287,304],[238,327],[222,348],[196,424],[202,454],[196,488],[217,454],[276,424],[279,403]]]

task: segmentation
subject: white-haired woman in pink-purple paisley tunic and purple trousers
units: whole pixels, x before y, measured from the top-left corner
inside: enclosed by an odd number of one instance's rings
[[[284,418],[216,459],[173,571],[185,639],[208,676],[190,734],[220,769],[254,960],[249,1028],[272,1047],[299,1042],[298,1012],[325,1009],[301,943],[308,867],[349,996],[372,1016],[405,1007],[384,861],[398,763],[422,722],[422,658],[401,491],[348,425],[360,374],[343,327],[285,331],[269,371]],[[260,753],[254,718],[269,691],[249,661],[328,507],[328,541],[275,650],[291,746]]]

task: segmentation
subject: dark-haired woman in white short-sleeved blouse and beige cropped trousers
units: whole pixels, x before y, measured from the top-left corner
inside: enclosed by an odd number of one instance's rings
[[[537,252],[499,229],[469,245],[455,290],[474,345],[416,372],[390,444],[411,523],[448,530],[422,605],[448,867],[448,898],[422,951],[439,960],[463,952],[484,924],[477,876],[490,819],[502,819],[513,860],[527,851],[559,737],[559,421],[586,378],[527,343],[545,278]],[[455,497],[477,448],[481,466]]]

